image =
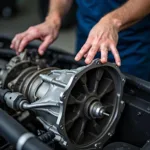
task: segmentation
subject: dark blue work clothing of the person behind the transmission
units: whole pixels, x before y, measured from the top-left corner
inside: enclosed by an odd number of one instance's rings
[[[77,51],[87,40],[92,27],[107,13],[127,0],[77,0]],[[150,81],[150,15],[119,33],[117,45],[121,71]],[[100,56],[99,56],[100,57]],[[109,53],[108,60],[114,62]]]

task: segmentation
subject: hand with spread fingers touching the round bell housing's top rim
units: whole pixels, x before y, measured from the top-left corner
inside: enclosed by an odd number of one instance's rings
[[[118,66],[121,65],[119,53],[116,49],[118,43],[118,27],[110,22],[107,17],[102,18],[90,31],[86,43],[75,57],[79,61],[85,57],[85,63],[90,64],[97,52],[101,52],[102,63],[107,62],[108,51],[110,50]]]

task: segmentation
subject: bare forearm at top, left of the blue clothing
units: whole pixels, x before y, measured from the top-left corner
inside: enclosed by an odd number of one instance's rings
[[[46,20],[54,18],[61,22],[63,16],[69,11],[73,0],[49,0],[49,12]]]

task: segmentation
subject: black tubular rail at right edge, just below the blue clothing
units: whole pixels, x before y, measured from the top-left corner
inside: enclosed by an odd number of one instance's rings
[[[132,84],[136,86],[138,89],[141,89],[147,93],[150,93],[150,82],[128,74],[125,74],[125,76],[127,83]]]

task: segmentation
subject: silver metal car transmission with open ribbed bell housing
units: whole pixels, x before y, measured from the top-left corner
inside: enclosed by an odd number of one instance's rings
[[[67,149],[100,149],[114,134],[124,108],[124,75],[116,65],[94,60],[77,69],[47,67],[27,51],[0,71],[3,102],[32,111]],[[9,89],[9,90],[8,90]]]

